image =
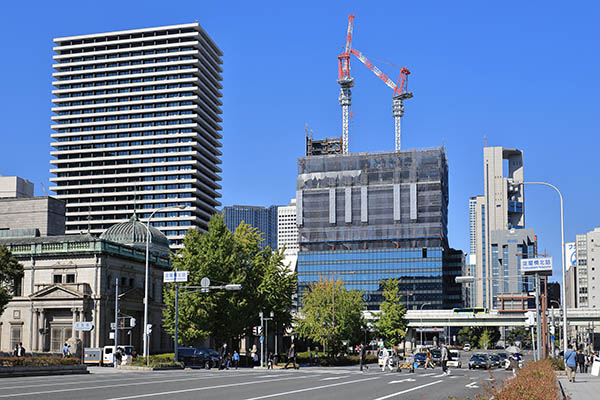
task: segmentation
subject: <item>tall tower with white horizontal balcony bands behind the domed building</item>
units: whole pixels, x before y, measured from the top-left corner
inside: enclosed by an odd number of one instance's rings
[[[54,39],[57,197],[66,233],[137,212],[172,247],[220,205],[223,53],[198,23]],[[172,207],[185,206],[185,209]]]

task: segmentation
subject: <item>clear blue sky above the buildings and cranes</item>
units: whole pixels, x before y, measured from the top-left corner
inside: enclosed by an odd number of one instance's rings
[[[340,136],[337,55],[411,71],[403,147],[446,146],[450,244],[468,250],[468,198],[488,145],[524,151],[527,180],[565,195],[567,241],[600,226],[600,7],[595,2],[9,2],[0,15],[0,174],[49,186],[52,38],[198,20],[225,53],[224,205],[287,204],[304,125]],[[350,151],[393,149],[392,91],[352,60]],[[526,189],[526,225],[560,265],[557,196]],[[555,273],[555,278],[559,278]]]

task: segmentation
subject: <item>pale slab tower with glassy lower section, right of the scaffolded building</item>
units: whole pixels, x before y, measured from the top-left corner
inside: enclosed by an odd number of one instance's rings
[[[484,194],[469,199],[470,247],[477,278],[471,292],[474,306],[496,307],[499,295],[529,289],[527,279],[514,278],[520,276],[520,259],[536,254],[535,234],[523,229],[523,177],[522,151],[484,147]]]

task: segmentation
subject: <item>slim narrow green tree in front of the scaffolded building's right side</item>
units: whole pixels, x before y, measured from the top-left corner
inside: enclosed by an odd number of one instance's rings
[[[399,283],[398,279],[381,281],[385,300],[380,305],[381,314],[375,321],[375,327],[383,337],[386,347],[396,346],[406,335],[406,307],[401,302]]]

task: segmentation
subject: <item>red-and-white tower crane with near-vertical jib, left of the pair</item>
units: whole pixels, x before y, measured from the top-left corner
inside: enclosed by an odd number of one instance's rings
[[[350,76],[350,52],[352,50],[352,31],[354,29],[354,14],[348,16],[348,31],[346,33],[346,47],[344,52],[338,56],[338,84],[340,95],[338,100],[342,106],[342,153],[348,154],[348,125],[349,109],[352,105],[352,91],[354,78]]]

